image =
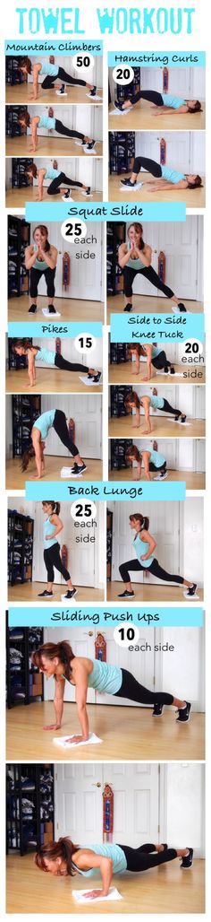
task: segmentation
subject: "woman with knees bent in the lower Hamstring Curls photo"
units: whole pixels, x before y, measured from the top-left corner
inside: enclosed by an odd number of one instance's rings
[[[179,172],[173,170],[172,167],[161,166],[161,163],[157,163],[156,160],[150,160],[150,157],[135,157],[131,176],[128,179],[121,179],[121,185],[127,189],[136,189],[140,170],[146,170],[152,176],[156,176],[157,180],[160,180],[159,183],[153,182],[153,180],[140,183],[140,185],[150,186],[150,192],[161,192],[162,190],[165,192],[167,189],[174,189],[177,192],[178,189],[198,189],[202,186],[202,179],[198,173]]]

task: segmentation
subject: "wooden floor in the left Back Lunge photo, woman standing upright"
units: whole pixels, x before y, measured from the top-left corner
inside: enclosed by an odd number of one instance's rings
[[[76,586],[77,596],[72,599],[72,602],[68,602],[69,605],[75,605],[79,602],[104,602],[104,589],[94,589],[93,586],[80,585]],[[42,592],[43,589],[46,589],[46,583],[17,583],[16,585],[8,585],[8,599],[10,602],[39,602],[40,605],[49,605],[55,602],[61,602],[61,595],[66,591],[66,586],[54,585],[53,589],[53,598],[50,598],[50,603],[46,602],[44,598],[39,598],[39,592]]]

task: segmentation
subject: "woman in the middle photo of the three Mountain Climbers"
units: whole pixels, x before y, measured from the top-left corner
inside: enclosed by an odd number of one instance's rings
[[[81,146],[85,152],[94,150],[95,141],[92,137],[88,135],[83,135],[80,131],[73,131],[73,129],[67,128],[65,124],[62,124],[60,119],[54,118],[53,109],[49,109],[49,113],[43,112],[42,115],[29,115],[29,112],[20,112],[17,119],[18,124],[22,128],[31,128],[31,148],[30,150],[35,151],[38,148],[38,128],[48,128],[48,131],[57,131],[58,135],[63,135],[65,137],[78,137],[81,141]]]

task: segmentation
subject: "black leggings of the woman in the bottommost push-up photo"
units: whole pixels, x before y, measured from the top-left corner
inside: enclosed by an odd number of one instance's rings
[[[163,852],[156,852],[155,845],[149,845],[148,843],[139,845],[139,848],[131,848],[130,845],[120,845],[119,847],[125,853],[127,870],[139,871],[157,868],[158,865],[177,858],[175,848],[165,848]],[[151,854],[152,852],[153,854]]]

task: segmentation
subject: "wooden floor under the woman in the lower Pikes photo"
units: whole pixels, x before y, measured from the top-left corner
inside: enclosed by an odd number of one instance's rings
[[[46,471],[44,477],[42,477],[45,482],[49,480],[58,480],[61,483],[61,467],[72,467],[73,458],[67,457],[65,455],[45,455],[46,458]],[[100,460],[95,460],[95,458],[84,459],[87,464],[87,469],[83,474],[83,478],[77,480],[77,483],[81,483],[84,480],[102,480],[103,478],[103,462]],[[13,458],[10,461],[6,461],[6,490],[25,490],[26,480],[34,480],[36,477],[36,467],[33,462],[29,463],[28,470],[22,473],[20,469],[19,458]],[[66,480],[68,482],[68,478]],[[70,483],[73,483],[73,478],[70,479]]]

